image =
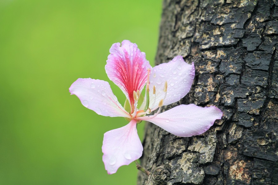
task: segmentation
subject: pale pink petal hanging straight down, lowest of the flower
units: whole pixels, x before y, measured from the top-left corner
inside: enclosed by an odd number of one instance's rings
[[[120,166],[128,165],[142,156],[143,146],[136,124],[136,120],[131,120],[127,125],[104,134],[102,160],[108,174],[116,173]]]

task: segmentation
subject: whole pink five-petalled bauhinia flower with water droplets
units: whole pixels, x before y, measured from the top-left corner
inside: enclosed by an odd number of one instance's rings
[[[108,82],[79,78],[70,86],[86,108],[102,116],[124,117],[129,123],[110,130],[103,138],[103,162],[108,174],[141,157],[143,146],[137,134],[137,123],[150,121],[180,137],[199,135],[207,131],[222,112],[215,106],[199,107],[194,104],[179,105],[163,113],[163,105],[183,98],[190,90],[195,68],[182,56],[152,68],[135,43],[124,40],[110,48],[106,73],[125,94],[123,107],[113,94]],[[145,97],[141,92],[146,86]],[[142,101],[141,101],[142,99]],[[153,115],[150,115],[150,113]]]

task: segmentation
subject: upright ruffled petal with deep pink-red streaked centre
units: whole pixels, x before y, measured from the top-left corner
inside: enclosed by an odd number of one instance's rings
[[[122,46],[120,43],[113,44],[110,53],[105,65],[106,73],[133,105],[133,91],[142,91],[147,82],[148,69],[151,69],[150,63],[145,53],[129,40],[124,40]]]

